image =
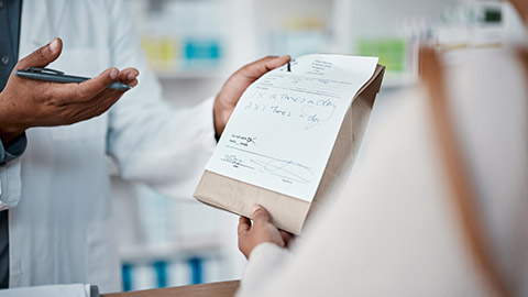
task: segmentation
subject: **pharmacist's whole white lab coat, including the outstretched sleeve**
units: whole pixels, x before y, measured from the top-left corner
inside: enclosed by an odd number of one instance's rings
[[[50,67],[85,76],[136,67],[140,84],[96,119],[30,129],[24,155],[0,168],[10,287],[89,283],[116,292],[106,155],[123,178],[190,197],[215,147],[212,100],[186,110],[162,101],[122,1],[24,0],[20,57],[56,36],[64,50]]]

